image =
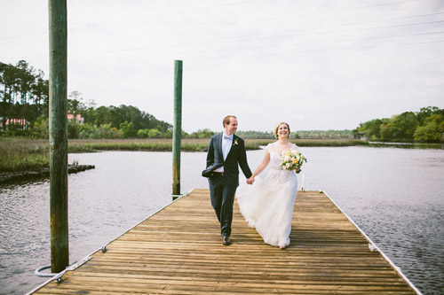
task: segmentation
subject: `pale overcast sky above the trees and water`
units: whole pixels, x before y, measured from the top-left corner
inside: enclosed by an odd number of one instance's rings
[[[0,61],[49,77],[48,2],[0,1]],[[134,105],[182,128],[353,129],[444,108],[442,0],[71,0],[68,93]]]

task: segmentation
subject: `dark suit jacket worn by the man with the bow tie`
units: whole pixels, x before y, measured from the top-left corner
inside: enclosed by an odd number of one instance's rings
[[[211,179],[212,171],[223,166],[227,181],[238,186],[239,166],[245,177],[250,178],[252,175],[247,163],[245,143],[241,137],[234,135],[233,145],[224,161],[224,155],[222,154],[222,135],[223,133],[218,133],[217,135],[211,136],[210,145],[208,146],[207,168],[203,170],[202,175],[210,177]]]

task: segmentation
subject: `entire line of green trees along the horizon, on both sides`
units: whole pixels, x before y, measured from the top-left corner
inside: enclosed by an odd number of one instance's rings
[[[157,120],[150,113],[132,105],[99,106],[73,91],[67,98],[67,110],[82,120],[68,120],[68,138],[170,138],[172,125]],[[49,82],[44,72],[20,60],[15,66],[0,62],[0,132],[4,136],[48,138]],[[75,118],[75,117],[74,117]],[[419,112],[405,112],[392,118],[361,123],[354,130],[301,130],[290,138],[351,138],[364,134],[369,140],[440,142],[444,133],[444,110],[428,106]],[[209,138],[215,132],[208,128],[184,138]],[[274,138],[273,131],[238,131],[252,139]]]

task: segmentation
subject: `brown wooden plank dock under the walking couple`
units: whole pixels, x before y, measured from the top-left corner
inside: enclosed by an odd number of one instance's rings
[[[297,192],[290,239],[264,244],[234,204],[234,244],[222,245],[209,190],[193,190],[34,292],[419,293],[324,193]]]

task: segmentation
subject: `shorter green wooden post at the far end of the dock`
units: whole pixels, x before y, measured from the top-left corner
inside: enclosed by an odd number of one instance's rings
[[[174,124],[172,132],[172,195],[180,195],[180,142],[182,139],[182,60],[174,61]]]

